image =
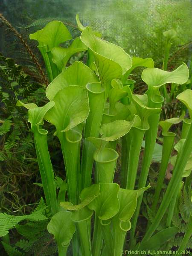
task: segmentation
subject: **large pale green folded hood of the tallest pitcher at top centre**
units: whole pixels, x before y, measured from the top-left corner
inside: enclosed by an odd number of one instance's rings
[[[121,47],[96,37],[90,27],[82,32],[81,41],[93,52],[102,86],[110,90],[111,80],[131,68],[131,57]]]

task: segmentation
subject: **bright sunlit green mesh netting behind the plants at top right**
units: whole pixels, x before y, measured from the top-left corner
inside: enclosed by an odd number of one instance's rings
[[[172,52],[183,47],[189,55],[191,4],[190,0],[89,0],[81,2],[81,17],[84,24],[102,32],[130,55],[158,60],[164,52],[163,32],[168,29],[177,32]]]

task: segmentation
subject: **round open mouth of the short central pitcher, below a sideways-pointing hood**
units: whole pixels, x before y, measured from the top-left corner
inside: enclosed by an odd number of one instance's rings
[[[112,148],[104,148],[100,152],[95,152],[94,160],[99,163],[109,163],[115,161],[119,157],[117,151]]]

